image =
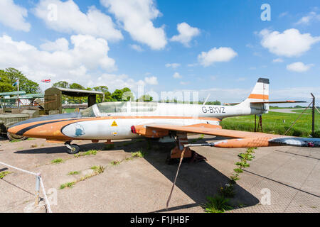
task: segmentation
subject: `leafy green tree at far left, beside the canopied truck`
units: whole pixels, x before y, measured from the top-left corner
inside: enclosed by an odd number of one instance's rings
[[[25,91],[27,94],[41,92],[39,84],[28,79],[22,72],[14,68],[7,68],[4,72],[6,72],[6,76],[11,84],[14,84],[19,79],[20,91]]]

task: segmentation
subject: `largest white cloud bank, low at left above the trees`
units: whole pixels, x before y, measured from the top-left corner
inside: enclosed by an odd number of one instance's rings
[[[60,43],[61,39],[59,40],[52,43]],[[57,48],[48,43],[42,45],[45,49],[50,49],[51,52],[48,52],[38,50],[23,41],[12,40],[8,35],[2,35],[0,37],[0,68],[15,67],[36,82],[50,76],[53,81],[69,78],[84,86],[92,70],[116,69],[114,60],[107,55],[109,51],[107,40],[90,35],[73,35],[70,43],[73,48],[68,50],[66,46]]]

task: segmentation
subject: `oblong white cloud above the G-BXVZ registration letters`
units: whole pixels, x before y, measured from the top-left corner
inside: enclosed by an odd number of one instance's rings
[[[212,48],[208,52],[201,52],[201,55],[198,55],[198,61],[207,67],[214,62],[229,62],[237,55],[238,53],[232,48]]]

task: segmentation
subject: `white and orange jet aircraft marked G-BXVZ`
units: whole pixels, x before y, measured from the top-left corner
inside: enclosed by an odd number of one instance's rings
[[[95,104],[73,114],[58,114],[33,118],[9,128],[9,133],[48,142],[65,143],[68,153],[78,153],[80,147],[73,140],[123,140],[134,138],[164,138],[171,136],[176,147],[171,158],[191,157],[188,133],[216,135],[227,140],[210,144],[218,148],[251,148],[271,145],[320,147],[319,138],[298,138],[287,135],[226,130],[220,126],[223,118],[231,116],[267,114],[269,105],[298,101],[269,101],[269,79],[257,80],[245,101],[235,106],[196,104],[166,104],[156,102],[110,102]]]

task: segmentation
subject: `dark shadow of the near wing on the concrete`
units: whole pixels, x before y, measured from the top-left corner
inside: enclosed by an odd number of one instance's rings
[[[208,140],[212,139],[210,138]],[[206,139],[198,141],[198,143],[206,143]],[[174,148],[174,143],[156,143],[152,146],[150,152],[144,156],[144,159],[173,183],[174,178],[176,177],[178,163],[174,165],[166,164],[166,157],[169,155],[169,150],[171,150],[171,148]],[[124,148],[124,151],[132,152],[132,148]],[[176,181],[176,187],[181,189],[181,191],[188,195],[193,201],[195,201],[195,203],[176,207],[169,205],[168,211],[201,206],[202,204],[206,203],[208,196],[213,197],[217,195],[220,187],[228,184],[228,182],[229,178],[216,170],[215,167],[209,165],[208,162],[183,162],[179,171],[178,179]],[[170,191],[164,193],[168,194],[169,196]],[[178,192],[175,189],[171,198],[174,198],[176,193]],[[259,199],[247,192],[238,184],[235,185],[235,193],[236,195],[233,199],[230,199],[230,203],[236,208],[254,206],[259,203]],[[164,206],[165,204],[166,201],[164,201]],[[163,211],[166,211],[166,209],[153,212]]]

